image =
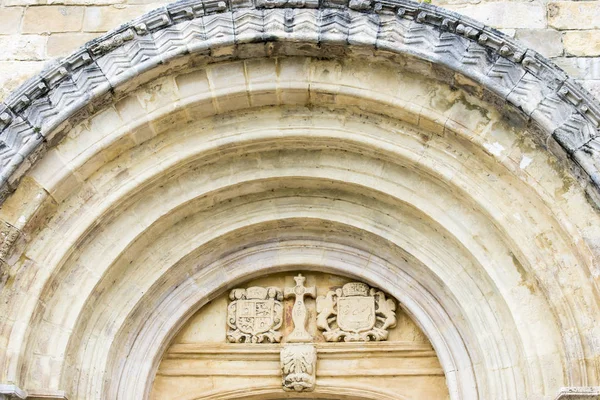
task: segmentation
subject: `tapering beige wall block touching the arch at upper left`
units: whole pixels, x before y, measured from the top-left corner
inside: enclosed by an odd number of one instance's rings
[[[83,19],[83,30],[85,32],[107,32],[159,6],[160,4],[152,3],[140,6],[87,7]]]

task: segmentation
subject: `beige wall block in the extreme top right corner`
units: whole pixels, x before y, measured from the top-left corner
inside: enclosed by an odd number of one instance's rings
[[[548,3],[548,25],[556,29],[600,28],[600,2],[557,1]]]

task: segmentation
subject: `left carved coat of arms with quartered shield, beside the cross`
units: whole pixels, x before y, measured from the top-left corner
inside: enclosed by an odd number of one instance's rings
[[[227,308],[227,341],[232,343],[279,343],[277,330],[283,322],[283,293],[276,287],[233,289]]]

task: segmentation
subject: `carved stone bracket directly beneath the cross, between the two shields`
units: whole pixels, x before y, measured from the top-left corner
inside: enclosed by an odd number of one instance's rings
[[[286,344],[281,349],[283,390],[311,392],[315,389],[317,349],[312,344]]]

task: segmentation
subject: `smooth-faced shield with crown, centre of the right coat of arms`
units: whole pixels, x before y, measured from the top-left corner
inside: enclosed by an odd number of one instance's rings
[[[337,323],[342,330],[358,333],[375,326],[375,298],[368,294],[369,287],[363,283],[344,285],[337,300]]]

